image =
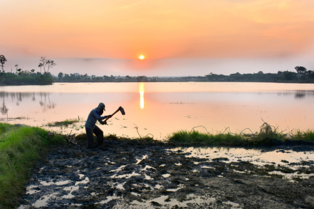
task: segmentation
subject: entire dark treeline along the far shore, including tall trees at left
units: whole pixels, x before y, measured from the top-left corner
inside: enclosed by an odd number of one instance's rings
[[[230,75],[218,75],[209,73],[204,76],[187,77],[147,77],[147,76],[107,76],[98,77],[96,75],[63,74],[55,77],[49,70],[56,63],[45,57],[40,58],[40,72],[35,70],[22,70],[15,65],[16,72],[4,72],[3,63],[6,59],[0,56],[2,71],[0,71],[0,85],[51,85],[54,82],[276,82],[276,83],[314,83],[314,71],[306,70],[302,66],[295,67],[296,72],[278,71],[277,73],[257,73],[241,74],[239,72]],[[41,69],[43,68],[43,73]]]

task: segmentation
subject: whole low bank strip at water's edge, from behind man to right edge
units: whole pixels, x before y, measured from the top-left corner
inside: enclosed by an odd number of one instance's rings
[[[249,129],[247,129],[249,130]],[[75,137],[77,141],[86,142],[86,135],[80,134]],[[160,141],[152,137],[140,137],[137,139],[130,139],[126,137],[117,137],[116,135],[105,136],[107,141],[121,141],[129,144],[163,144],[168,146],[233,146],[233,147],[264,147],[264,146],[279,146],[279,145],[312,145],[314,146],[314,131],[307,130],[301,132],[295,130],[294,132],[278,132],[276,127],[264,123],[260,132],[251,132],[246,134],[244,131],[239,134],[231,132],[220,132],[211,134],[209,132],[202,133],[196,130],[180,130],[170,134],[167,139]]]

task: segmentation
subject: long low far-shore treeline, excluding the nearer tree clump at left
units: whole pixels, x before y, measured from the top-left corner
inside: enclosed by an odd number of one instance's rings
[[[147,76],[107,76],[97,77],[95,75],[63,74],[54,77],[54,82],[277,82],[277,83],[314,83],[313,70],[304,67],[295,67],[297,72],[278,71],[277,73],[241,74],[239,72],[230,75],[217,75],[210,73],[205,76],[188,77],[147,77]]]

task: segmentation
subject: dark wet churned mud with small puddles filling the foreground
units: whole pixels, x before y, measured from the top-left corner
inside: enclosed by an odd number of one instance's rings
[[[94,150],[84,143],[61,146],[33,172],[20,208],[314,208],[313,176],[269,174],[313,174],[311,160],[292,171],[289,162],[260,167],[188,155],[121,141]]]

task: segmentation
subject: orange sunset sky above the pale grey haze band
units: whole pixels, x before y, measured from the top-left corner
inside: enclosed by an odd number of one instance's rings
[[[313,0],[2,0],[0,54],[15,60],[313,59],[313,11]]]

